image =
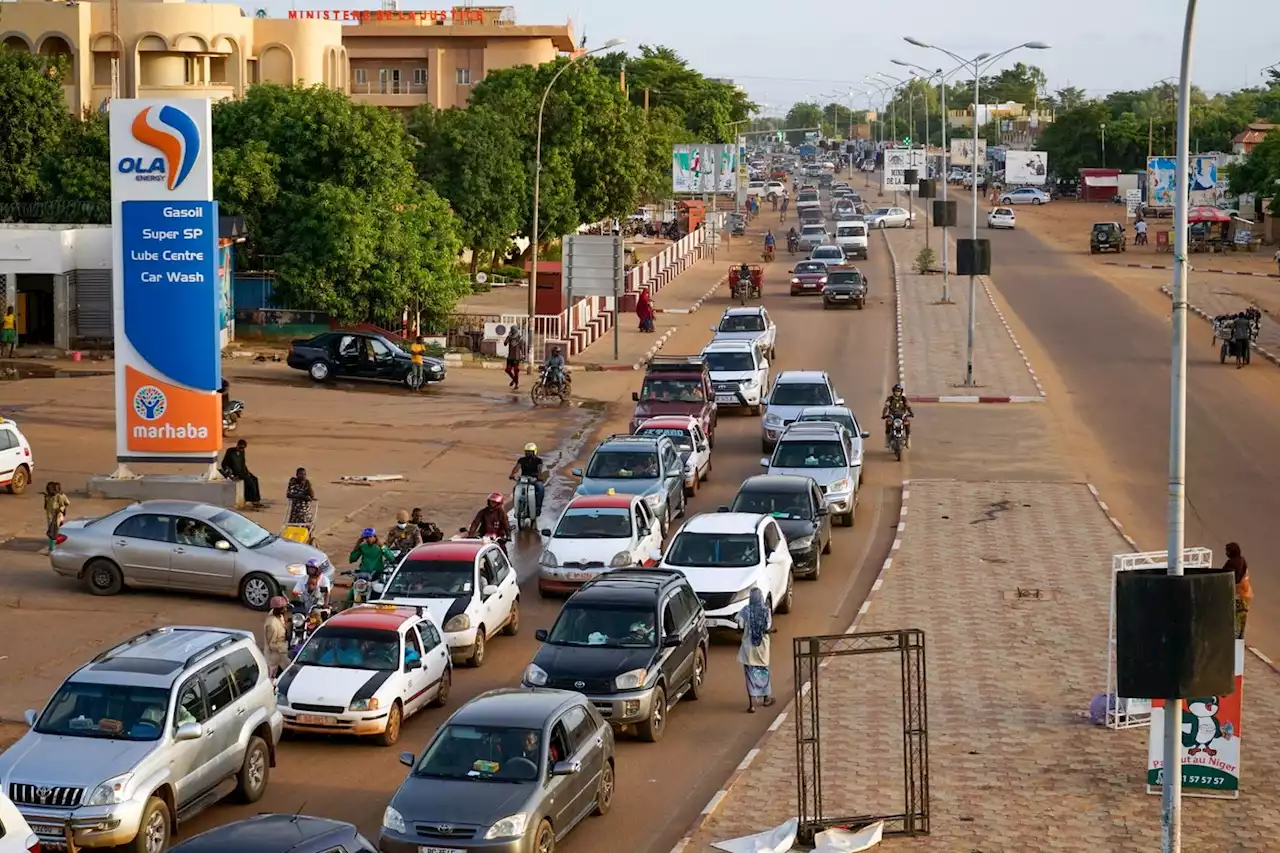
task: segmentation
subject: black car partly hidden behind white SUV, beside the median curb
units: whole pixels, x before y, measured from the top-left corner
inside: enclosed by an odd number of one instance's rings
[[[742,482],[728,510],[773,516],[787,538],[792,574],[809,580],[822,574],[822,555],[831,553],[831,515],[810,478],[756,474]]]

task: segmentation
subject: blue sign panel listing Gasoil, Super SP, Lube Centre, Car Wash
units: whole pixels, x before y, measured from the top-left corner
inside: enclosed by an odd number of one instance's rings
[[[218,202],[125,201],[120,207],[129,342],[174,382],[218,391]]]

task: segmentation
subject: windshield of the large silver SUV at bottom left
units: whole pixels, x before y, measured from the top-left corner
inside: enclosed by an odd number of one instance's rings
[[[67,681],[36,721],[38,734],[159,740],[169,711],[164,688]]]

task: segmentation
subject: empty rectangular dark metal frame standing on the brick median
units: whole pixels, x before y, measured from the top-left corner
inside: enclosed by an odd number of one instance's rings
[[[822,671],[832,658],[859,654],[897,654],[902,672],[902,811],[895,815],[828,817],[822,797]],[[924,674],[924,631],[863,631],[826,637],[796,637],[796,800],[797,839],[813,844],[831,827],[861,829],[884,821],[884,835],[929,834],[929,730]]]

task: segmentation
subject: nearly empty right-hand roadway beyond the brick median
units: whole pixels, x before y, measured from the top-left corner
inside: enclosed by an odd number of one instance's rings
[[[964,236],[970,222],[965,205],[960,219]],[[1162,548],[1167,319],[1034,234],[989,236],[997,289],[1038,339],[1075,412],[1105,451],[1108,470],[1091,473],[1091,479],[1100,487],[1107,483],[1103,496],[1125,507],[1123,520],[1142,532],[1135,533],[1142,547]],[[1280,612],[1280,574],[1266,555],[1280,546],[1280,493],[1266,473],[1280,461],[1274,426],[1280,423],[1277,377],[1262,360],[1239,371],[1220,365],[1217,350],[1207,346],[1208,327],[1192,316],[1188,330],[1187,544],[1211,547],[1221,558],[1222,546],[1236,540],[1252,555],[1256,598],[1248,639],[1274,656],[1280,652],[1280,624],[1274,619]]]

